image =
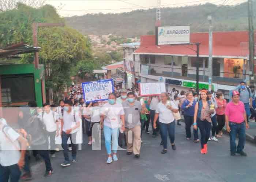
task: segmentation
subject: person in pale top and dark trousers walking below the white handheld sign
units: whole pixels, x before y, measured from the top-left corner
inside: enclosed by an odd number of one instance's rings
[[[151,124],[152,124],[152,130],[153,130],[153,134],[152,137],[155,138],[158,133],[159,133],[159,121],[157,120],[157,128],[155,129],[153,127],[153,121],[155,118],[155,110],[157,108],[157,104],[159,103],[160,99],[159,96],[151,96],[150,99],[148,100],[148,104],[149,104],[149,108],[150,108],[150,120],[151,120]]]

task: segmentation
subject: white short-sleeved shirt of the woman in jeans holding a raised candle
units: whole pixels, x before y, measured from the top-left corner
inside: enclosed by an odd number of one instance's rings
[[[177,109],[173,102],[171,102],[171,106],[172,108]],[[159,102],[157,104],[157,109],[155,110],[155,113],[159,113],[160,123],[168,124],[174,121],[173,112],[169,110],[162,102]]]

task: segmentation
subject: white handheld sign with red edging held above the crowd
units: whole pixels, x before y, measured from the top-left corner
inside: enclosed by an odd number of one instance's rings
[[[165,83],[140,83],[140,95],[160,95],[162,92],[166,92]]]

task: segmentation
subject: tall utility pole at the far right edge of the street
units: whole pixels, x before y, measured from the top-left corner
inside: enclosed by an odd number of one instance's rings
[[[250,65],[250,82],[254,83],[254,28],[253,28],[253,11],[252,11],[252,0],[248,0],[248,25],[249,25],[249,65]]]

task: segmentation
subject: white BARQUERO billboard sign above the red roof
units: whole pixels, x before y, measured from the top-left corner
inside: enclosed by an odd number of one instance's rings
[[[190,42],[190,26],[158,27],[157,44],[188,44]]]

